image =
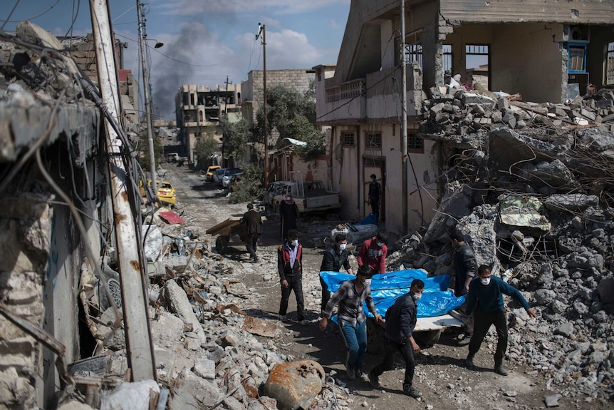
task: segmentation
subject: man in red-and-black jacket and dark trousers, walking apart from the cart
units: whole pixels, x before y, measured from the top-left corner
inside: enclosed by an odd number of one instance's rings
[[[279,318],[286,319],[290,292],[296,297],[296,312],[300,324],[308,324],[303,307],[303,245],[298,243],[298,231],[288,230],[288,239],[277,250],[277,270],[281,282]]]

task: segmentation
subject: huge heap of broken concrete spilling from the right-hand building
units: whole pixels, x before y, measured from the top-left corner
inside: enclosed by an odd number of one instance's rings
[[[563,396],[612,400],[613,93],[531,104],[450,92],[425,103],[423,130],[471,153],[449,170],[454,182],[430,226],[397,243],[389,269],[453,279],[449,234],[462,230],[478,265],[537,309],[529,324],[524,309],[509,307],[508,358]],[[495,338],[491,329],[486,343]]]

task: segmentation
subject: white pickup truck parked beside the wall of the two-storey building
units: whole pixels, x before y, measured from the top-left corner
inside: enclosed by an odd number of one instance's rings
[[[279,204],[290,193],[296,202],[298,212],[318,212],[335,210],[341,207],[341,195],[335,191],[328,191],[321,180],[290,181],[279,195],[273,199],[273,207],[279,210]]]

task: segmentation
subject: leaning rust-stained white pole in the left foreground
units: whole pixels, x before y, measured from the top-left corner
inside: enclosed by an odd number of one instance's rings
[[[115,53],[113,53],[107,1],[90,0],[90,14],[100,96],[110,115],[121,123],[119,121],[118,76],[115,71]],[[132,217],[128,199],[132,195],[128,195],[128,170],[125,168],[122,156],[123,143],[106,119],[105,131],[130,376],[132,381],[156,379],[147,308],[149,298],[145,282],[145,267],[140,263],[135,220]],[[95,261],[92,262],[95,263]]]

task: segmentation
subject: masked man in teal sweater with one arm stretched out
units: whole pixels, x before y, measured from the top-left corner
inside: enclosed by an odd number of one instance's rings
[[[491,276],[490,267],[481,265],[477,270],[478,277],[469,283],[467,294],[467,309],[465,313],[474,312],[474,332],[469,342],[469,354],[465,360],[467,367],[474,367],[473,359],[491,324],[496,329],[497,342],[494,352],[494,371],[507,376],[508,372],[503,367],[503,357],[507,349],[507,317],[503,295],[506,294],[522,304],[526,312],[535,317],[534,309],[529,306],[526,299],[518,289],[506,284],[498,277]]]

